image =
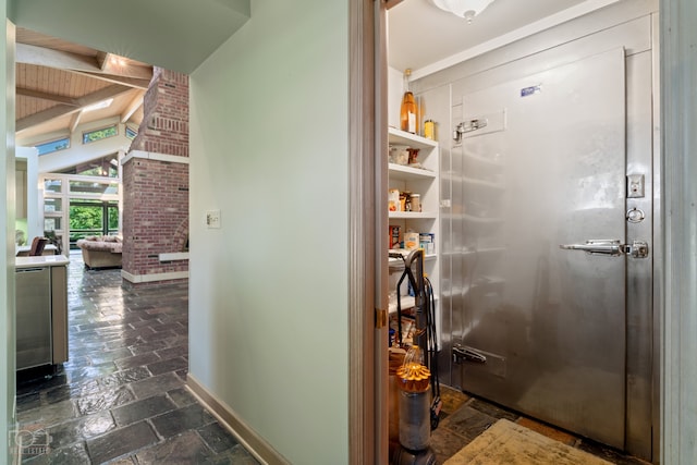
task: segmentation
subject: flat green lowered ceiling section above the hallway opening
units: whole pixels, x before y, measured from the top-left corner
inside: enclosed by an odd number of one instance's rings
[[[249,0],[7,0],[14,24],[191,73],[249,20]]]

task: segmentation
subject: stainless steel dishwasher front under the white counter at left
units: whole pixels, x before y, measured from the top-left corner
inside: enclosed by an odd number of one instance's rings
[[[16,270],[16,369],[52,362],[51,271],[49,267]]]

